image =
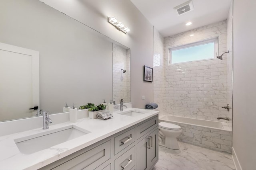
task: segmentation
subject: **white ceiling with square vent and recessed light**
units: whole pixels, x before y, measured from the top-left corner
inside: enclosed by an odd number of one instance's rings
[[[174,7],[188,0],[131,0],[163,37],[228,18],[231,0],[192,0],[194,10],[178,16]],[[186,26],[187,22],[192,22]]]

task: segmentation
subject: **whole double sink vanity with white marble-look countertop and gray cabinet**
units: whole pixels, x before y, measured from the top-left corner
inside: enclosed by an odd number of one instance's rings
[[[50,115],[49,129],[33,126],[42,117],[1,122],[9,132],[0,137],[0,169],[152,169],[158,161],[158,111],[127,108],[107,120],[78,111],[76,123],[68,114]]]

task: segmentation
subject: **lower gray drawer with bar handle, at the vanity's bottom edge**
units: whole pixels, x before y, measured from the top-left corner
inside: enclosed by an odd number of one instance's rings
[[[114,161],[115,170],[130,170],[135,165],[135,146]]]

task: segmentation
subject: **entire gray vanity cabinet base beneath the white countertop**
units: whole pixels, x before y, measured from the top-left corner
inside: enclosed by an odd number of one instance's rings
[[[158,115],[41,170],[151,170],[158,160]]]

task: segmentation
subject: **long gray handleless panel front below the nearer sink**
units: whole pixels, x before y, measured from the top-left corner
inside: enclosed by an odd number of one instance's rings
[[[92,170],[111,157],[111,141],[107,141],[67,162],[57,166],[54,170],[84,169]]]

